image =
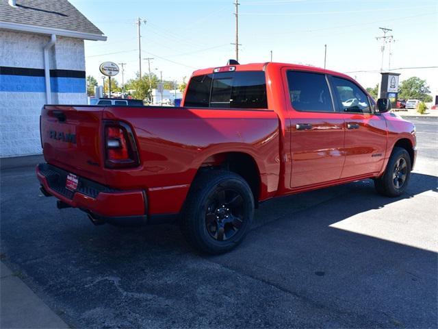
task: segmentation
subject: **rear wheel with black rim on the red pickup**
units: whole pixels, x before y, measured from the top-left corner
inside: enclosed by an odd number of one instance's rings
[[[223,254],[242,242],[253,222],[254,197],[236,173],[211,169],[194,180],[181,217],[181,232],[200,252]]]

